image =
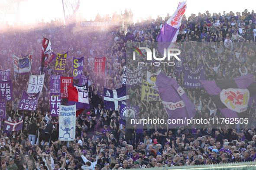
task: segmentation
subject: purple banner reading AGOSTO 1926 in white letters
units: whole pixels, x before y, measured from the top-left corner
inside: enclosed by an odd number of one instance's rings
[[[21,110],[36,110],[36,105],[39,98],[39,93],[30,95],[26,91],[23,91],[19,101],[19,109]]]

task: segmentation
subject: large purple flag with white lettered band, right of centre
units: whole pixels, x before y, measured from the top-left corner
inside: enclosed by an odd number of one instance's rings
[[[176,124],[169,124],[170,128],[186,125],[185,119],[194,117],[196,113],[194,104],[175,79],[169,78],[164,73],[160,72],[159,75],[156,76],[156,86],[153,88],[158,89],[162,104],[169,115],[169,119],[183,120],[177,121]]]

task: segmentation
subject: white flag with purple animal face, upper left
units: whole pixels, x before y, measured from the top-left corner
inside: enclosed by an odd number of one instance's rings
[[[33,52],[23,58],[18,58],[13,55],[13,70],[17,73],[30,72],[32,64]]]

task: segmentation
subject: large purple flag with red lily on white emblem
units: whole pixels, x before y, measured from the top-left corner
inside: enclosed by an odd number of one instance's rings
[[[200,80],[216,107],[226,118],[248,116],[256,99],[256,82],[252,74],[224,80]]]

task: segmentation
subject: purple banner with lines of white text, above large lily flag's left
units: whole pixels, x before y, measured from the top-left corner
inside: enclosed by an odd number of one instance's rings
[[[198,68],[194,71],[192,71],[188,65],[184,67],[184,81],[183,81],[183,87],[187,88],[197,88],[197,87],[203,87],[199,80],[205,80],[204,76],[204,65],[200,64]]]

